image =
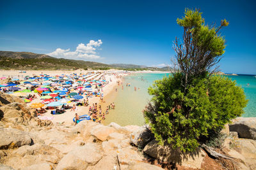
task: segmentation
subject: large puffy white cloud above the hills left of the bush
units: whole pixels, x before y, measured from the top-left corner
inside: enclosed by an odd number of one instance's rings
[[[101,39],[98,41],[90,40],[86,45],[80,43],[74,52],[70,51],[70,48],[67,50],[57,48],[54,52],[47,53],[47,55],[64,59],[100,59],[99,55],[95,55],[95,50],[97,50],[97,47],[100,45],[102,45]]]

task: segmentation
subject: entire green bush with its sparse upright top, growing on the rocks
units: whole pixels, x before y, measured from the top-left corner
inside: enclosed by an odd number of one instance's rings
[[[148,89],[152,100],[144,110],[157,141],[182,152],[195,150],[209,134],[220,132],[232,118],[240,117],[247,103],[235,81],[211,74],[225,52],[225,39],[218,32],[228,22],[209,27],[201,15],[198,10],[186,9],[185,17],[177,19],[184,27],[182,44],[175,41],[178,69]]]

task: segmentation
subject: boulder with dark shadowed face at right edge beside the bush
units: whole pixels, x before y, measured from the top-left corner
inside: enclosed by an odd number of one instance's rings
[[[239,138],[256,140],[256,118],[237,118],[229,125],[230,132],[237,132]]]

